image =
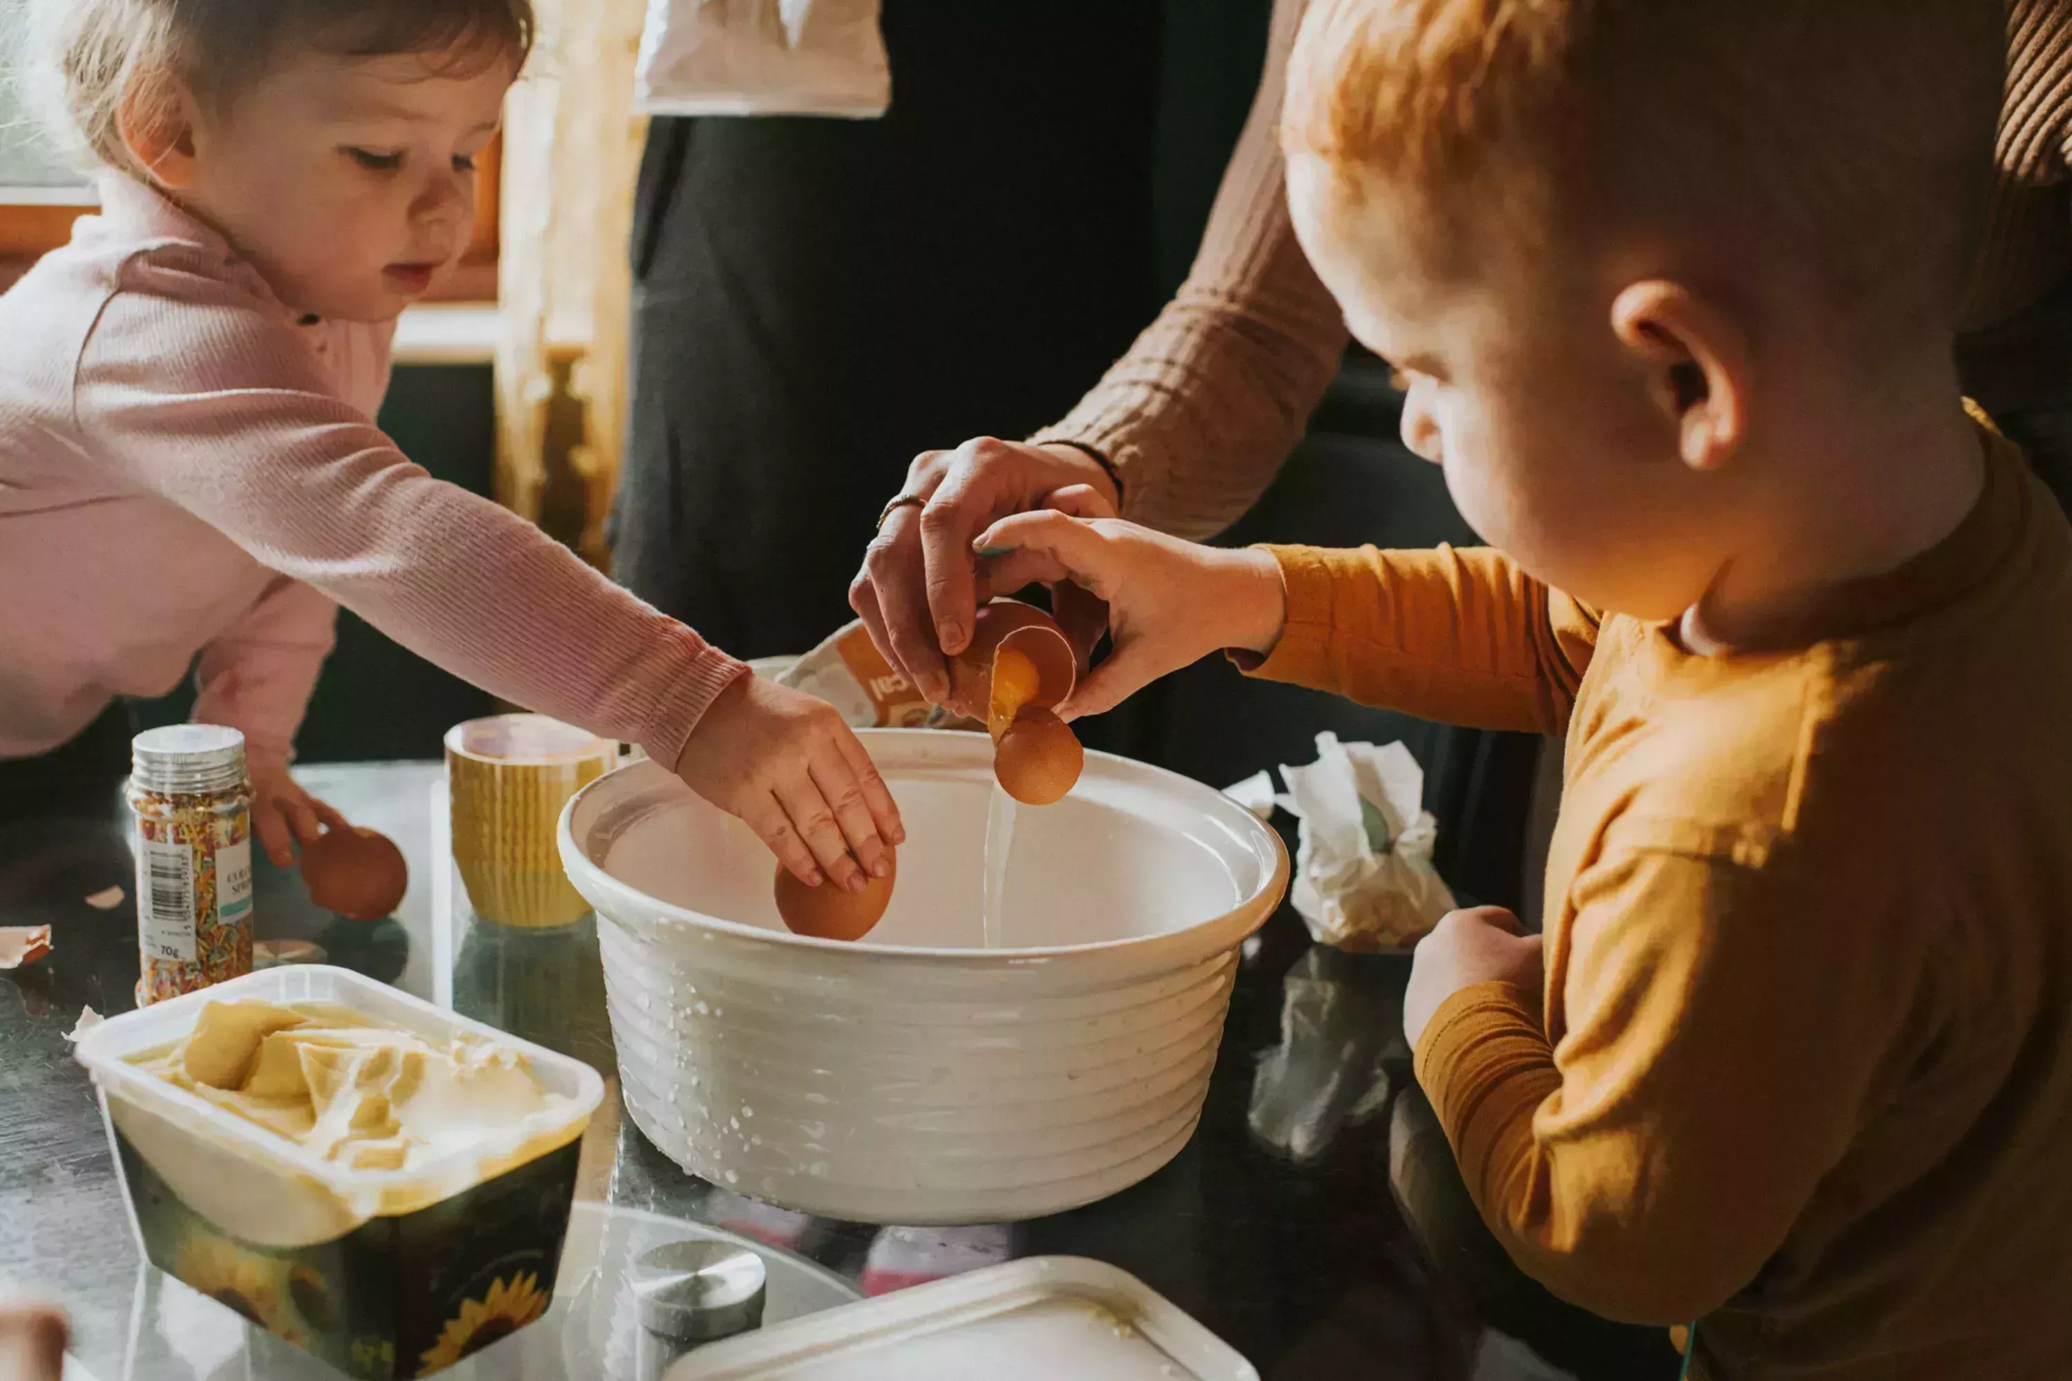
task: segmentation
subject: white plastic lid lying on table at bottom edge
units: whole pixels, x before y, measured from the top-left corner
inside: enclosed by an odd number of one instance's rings
[[[700,1348],[665,1381],[1260,1381],[1133,1275],[1030,1257]]]

